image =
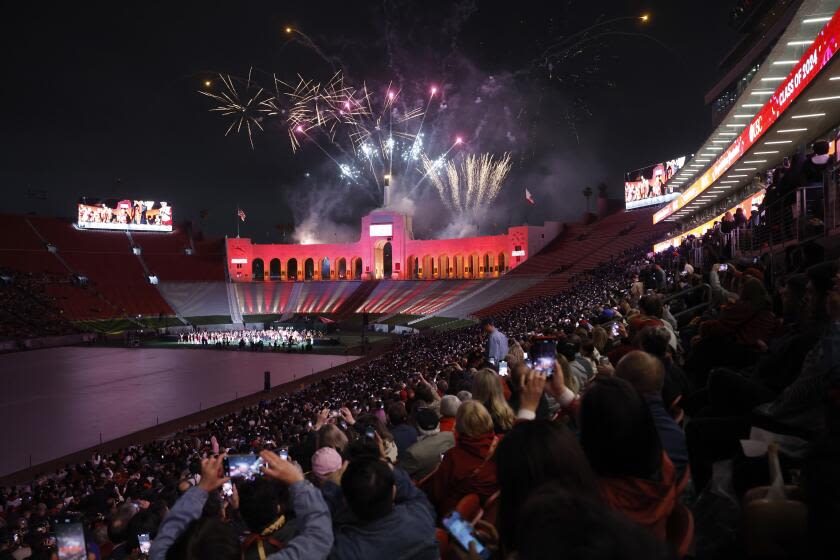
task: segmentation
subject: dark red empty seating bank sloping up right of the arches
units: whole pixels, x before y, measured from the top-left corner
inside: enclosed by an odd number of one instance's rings
[[[653,225],[653,209],[637,212],[619,212],[596,222],[591,226],[571,226],[567,228],[563,239],[551,243],[539,255],[529,259],[524,265],[523,272],[546,274],[539,283],[516,293],[507,299],[499,300],[484,309],[477,310],[475,315],[487,315],[506,311],[535,297],[553,295],[568,289],[574,274],[585,272],[613,257],[616,257],[631,247],[650,240],[656,233],[664,233],[668,226]],[[520,273],[517,269],[514,273]],[[515,277],[516,274],[512,274]]]

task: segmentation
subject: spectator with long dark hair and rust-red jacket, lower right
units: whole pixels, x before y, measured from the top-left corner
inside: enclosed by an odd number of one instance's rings
[[[599,377],[583,397],[580,424],[606,502],[664,541],[676,478],[642,397],[623,379]]]

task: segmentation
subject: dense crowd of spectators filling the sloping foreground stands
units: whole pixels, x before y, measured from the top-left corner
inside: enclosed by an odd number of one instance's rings
[[[154,559],[684,556],[703,500],[778,482],[741,446],[753,427],[800,442],[773,472],[813,513],[764,538],[824,557],[840,504],[837,281],[833,261],[778,277],[760,260],[628,251],[481,325],[2,488],[0,559],[52,558],[57,514],[102,559],[143,556],[146,535]],[[252,479],[227,477],[241,454]],[[745,532],[730,552],[755,544]]]

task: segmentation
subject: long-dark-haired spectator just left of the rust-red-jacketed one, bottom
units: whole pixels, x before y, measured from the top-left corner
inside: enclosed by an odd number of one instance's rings
[[[499,502],[498,527],[506,552],[519,548],[517,535],[522,506],[543,484],[600,500],[595,475],[577,438],[559,422],[521,422],[499,444],[496,454]]]

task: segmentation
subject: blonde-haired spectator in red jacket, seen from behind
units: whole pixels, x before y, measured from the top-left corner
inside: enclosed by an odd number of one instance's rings
[[[455,447],[443,456],[428,485],[429,498],[441,516],[455,509],[467,494],[478,494],[483,501],[498,490],[493,455],[499,437],[484,405],[478,401],[461,404],[455,431]]]

